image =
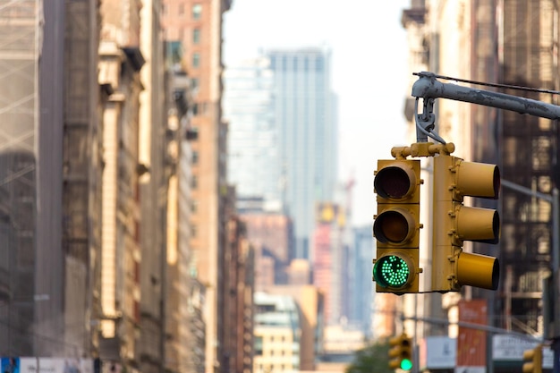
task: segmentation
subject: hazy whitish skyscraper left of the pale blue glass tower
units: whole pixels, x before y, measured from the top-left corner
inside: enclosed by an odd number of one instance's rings
[[[228,66],[224,77],[224,113],[231,123],[228,181],[235,185],[240,202],[259,198],[265,210],[280,211],[282,185],[270,61],[259,57]]]

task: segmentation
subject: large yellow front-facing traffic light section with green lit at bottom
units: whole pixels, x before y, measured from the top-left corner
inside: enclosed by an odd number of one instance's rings
[[[373,224],[377,292],[418,292],[421,182],[420,160],[378,160],[374,178],[378,214]]]

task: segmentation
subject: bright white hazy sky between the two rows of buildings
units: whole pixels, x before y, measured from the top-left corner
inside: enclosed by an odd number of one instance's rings
[[[224,62],[257,56],[259,48],[319,47],[332,51],[338,97],[339,180],[353,176],[352,223],[372,225],[373,171],[391,148],[407,144],[403,117],[410,0],[233,0],[225,13]]]

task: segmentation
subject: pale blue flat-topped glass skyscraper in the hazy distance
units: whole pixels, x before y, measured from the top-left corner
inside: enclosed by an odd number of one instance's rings
[[[309,259],[318,201],[333,200],[336,183],[336,102],[327,48],[270,50],[275,77],[283,205],[293,216],[295,257]]]

